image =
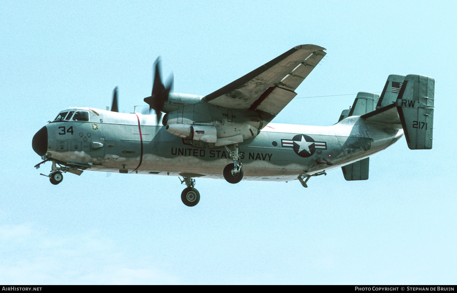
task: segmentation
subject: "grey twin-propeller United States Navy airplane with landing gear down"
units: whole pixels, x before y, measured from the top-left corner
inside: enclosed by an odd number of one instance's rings
[[[117,88],[111,110],[62,110],[33,136],[43,160],[35,167],[52,162],[41,175],[55,185],[62,173],[85,170],[177,176],[186,185],[182,202],[195,206],[195,178],[308,187],[311,177],[341,167],[345,180],[367,180],[369,157],[403,135],[409,149],[432,148],[435,80],[417,74],[389,75],[381,96],[359,92],[332,126],[272,123],[325,50],[293,47],[205,96],[171,93],[173,78],[163,84],[158,58],[144,98],[149,112],[119,113]]]

